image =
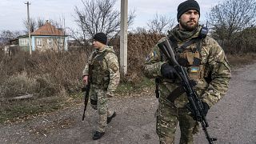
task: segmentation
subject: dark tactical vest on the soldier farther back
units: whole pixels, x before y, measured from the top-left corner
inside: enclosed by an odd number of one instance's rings
[[[110,82],[110,71],[106,62],[106,54],[114,53],[111,50],[104,50],[102,54],[95,54],[93,58],[92,84],[103,90],[107,90]]]

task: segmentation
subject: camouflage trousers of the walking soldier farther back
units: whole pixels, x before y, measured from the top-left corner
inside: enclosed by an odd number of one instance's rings
[[[107,117],[114,114],[113,110],[110,110],[107,102],[109,98],[106,97],[106,90],[90,89],[90,106],[94,110],[98,110],[98,132],[105,132],[107,126]]]

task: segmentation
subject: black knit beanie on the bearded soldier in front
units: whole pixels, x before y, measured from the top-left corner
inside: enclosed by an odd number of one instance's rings
[[[200,16],[200,6],[198,5],[198,2],[194,0],[186,0],[185,2],[182,2],[178,5],[178,14],[177,14],[177,20],[184,14],[187,10],[197,10]]]

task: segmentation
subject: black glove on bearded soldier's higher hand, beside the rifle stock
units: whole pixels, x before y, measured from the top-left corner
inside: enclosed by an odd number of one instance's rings
[[[177,72],[174,66],[170,66],[168,63],[164,63],[161,66],[161,74],[163,78],[174,79],[177,76]]]

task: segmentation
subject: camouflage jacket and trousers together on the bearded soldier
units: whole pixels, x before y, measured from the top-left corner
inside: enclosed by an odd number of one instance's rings
[[[194,34],[192,38],[197,36],[198,33]],[[168,38],[169,37],[164,37],[160,39],[158,43]],[[184,41],[178,41],[178,47],[182,46],[183,43]],[[195,44],[192,43],[188,48],[193,49],[194,45]],[[228,84],[231,78],[230,65],[226,60],[222,47],[209,36],[202,39],[202,46],[199,52],[204,72],[202,78],[190,79],[194,79],[197,82],[194,89],[197,91],[199,98],[202,98],[202,102],[206,102],[211,107],[223,98],[228,90]],[[166,63],[166,60],[162,58],[158,44],[156,44],[146,58],[143,71],[147,78],[160,79],[160,98],[158,99],[159,106],[156,126],[160,143],[174,143],[174,134],[178,122],[181,127],[180,143],[193,143],[193,134],[198,131],[198,122],[195,122],[190,116],[190,112],[186,110],[185,105],[188,103],[186,94],[180,95],[174,102],[170,102],[166,99],[167,96],[179,86],[179,80],[178,78],[162,78],[161,66],[163,63]],[[206,81],[208,77],[211,78],[210,82]]]

